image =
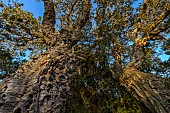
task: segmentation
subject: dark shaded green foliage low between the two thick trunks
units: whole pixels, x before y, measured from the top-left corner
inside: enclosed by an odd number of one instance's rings
[[[146,107],[112,76],[108,66],[104,71],[102,66],[97,67],[91,60],[84,62],[81,75],[77,72],[73,77],[66,112],[149,113]]]

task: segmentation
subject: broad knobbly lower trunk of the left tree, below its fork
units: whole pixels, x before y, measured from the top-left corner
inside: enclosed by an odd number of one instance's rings
[[[0,113],[64,113],[69,83],[79,64],[70,44],[55,47],[32,58],[4,80]]]

